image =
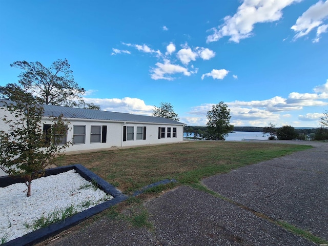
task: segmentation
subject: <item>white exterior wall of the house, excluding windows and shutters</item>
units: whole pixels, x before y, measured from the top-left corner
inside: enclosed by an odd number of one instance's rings
[[[2,120],[4,115],[10,117],[8,111],[0,110],[0,130],[8,131],[8,125]],[[12,118],[12,117],[11,117]],[[159,125],[151,124],[148,122],[116,122],[108,120],[90,120],[90,119],[68,119],[68,133],[67,140],[72,141],[73,139],[73,127],[86,126],[85,144],[72,144],[69,148],[66,148],[65,152],[70,151],[81,151],[81,150],[94,150],[112,147],[127,147],[127,146],[140,146],[140,145],[153,145],[153,144],[167,144],[173,142],[183,141],[183,125]],[[51,124],[52,122],[48,119],[42,120],[43,124]],[[90,143],[91,137],[91,126],[107,126],[107,139],[105,143]],[[134,127],[133,140],[123,141],[124,126]],[[137,127],[146,127],[146,139],[137,140]],[[158,139],[158,127],[166,128],[165,138]],[[167,128],[171,128],[171,137],[167,137]],[[172,137],[173,128],[176,128],[176,137]]]

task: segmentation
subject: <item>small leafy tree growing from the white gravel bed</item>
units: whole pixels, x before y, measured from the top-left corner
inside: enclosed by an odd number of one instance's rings
[[[11,114],[2,118],[9,130],[0,131],[0,168],[11,176],[23,177],[30,196],[32,180],[43,176],[44,169],[68,146],[58,145],[61,136],[66,136],[67,126],[62,117],[53,117],[52,129],[44,132],[44,109],[38,98],[15,84],[0,87],[0,94],[6,99],[1,100],[1,109]]]

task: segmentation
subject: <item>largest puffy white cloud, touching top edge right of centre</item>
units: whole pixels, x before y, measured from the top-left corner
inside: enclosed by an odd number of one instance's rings
[[[224,17],[224,23],[207,37],[207,42],[215,42],[224,36],[239,43],[240,39],[250,37],[257,23],[275,22],[282,17],[282,10],[301,0],[244,0],[233,16]]]

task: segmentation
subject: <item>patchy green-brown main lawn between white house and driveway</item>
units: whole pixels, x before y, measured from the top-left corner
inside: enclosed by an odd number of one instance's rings
[[[198,182],[214,174],[308,148],[311,147],[195,141],[66,155],[58,158],[55,164],[67,166],[79,163],[122,192],[132,194],[135,190],[166,178],[175,178],[180,183]]]

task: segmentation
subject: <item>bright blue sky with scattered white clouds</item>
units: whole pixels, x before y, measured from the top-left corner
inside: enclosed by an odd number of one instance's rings
[[[206,125],[319,127],[328,110],[328,0],[0,0],[0,85],[17,60],[69,60],[85,100]]]

